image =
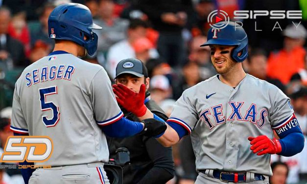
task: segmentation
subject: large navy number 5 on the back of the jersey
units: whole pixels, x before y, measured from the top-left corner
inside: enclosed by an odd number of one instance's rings
[[[42,111],[52,110],[52,114],[53,114],[53,117],[51,119],[48,119],[47,116],[42,116],[43,122],[47,127],[55,126],[60,120],[59,107],[56,106],[52,101],[47,102],[46,98],[47,98],[47,95],[57,94],[58,88],[57,86],[41,88],[39,89],[39,92],[40,92],[40,100],[41,100],[41,110]]]

